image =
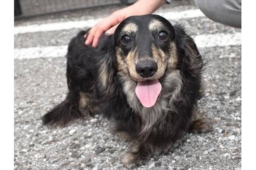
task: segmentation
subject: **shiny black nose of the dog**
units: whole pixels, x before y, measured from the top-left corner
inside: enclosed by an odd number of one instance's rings
[[[136,72],[143,78],[152,77],[157,71],[155,61],[140,61],[136,64]]]

